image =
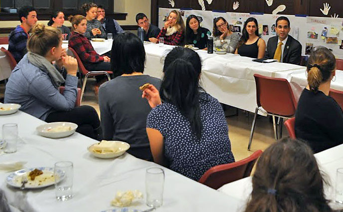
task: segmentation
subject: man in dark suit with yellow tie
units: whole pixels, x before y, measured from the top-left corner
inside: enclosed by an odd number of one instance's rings
[[[302,46],[298,40],[288,35],[291,30],[289,19],[285,16],[278,17],[275,29],[277,36],[268,39],[265,57],[300,65]]]

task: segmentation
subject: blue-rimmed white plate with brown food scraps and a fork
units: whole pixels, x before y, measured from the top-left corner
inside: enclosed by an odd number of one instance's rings
[[[21,179],[23,175],[27,175],[33,171],[34,169],[39,169],[43,172],[42,175],[37,176],[34,181],[31,181],[28,178],[28,182],[25,184],[25,189],[39,189],[43,187],[48,187],[55,184],[55,178],[54,176],[54,168],[51,167],[36,167],[36,168],[30,168],[30,169],[22,169],[16,172],[13,172],[12,174],[8,175],[6,178],[6,183],[10,186],[20,188],[21,187]],[[63,180],[65,177],[65,174],[62,170],[59,170],[58,172],[58,182]]]

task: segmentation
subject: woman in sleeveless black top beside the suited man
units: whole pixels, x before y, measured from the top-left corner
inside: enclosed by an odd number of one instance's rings
[[[239,40],[235,54],[251,58],[263,58],[265,41],[258,36],[258,23],[256,18],[249,17],[244,22],[242,36]]]

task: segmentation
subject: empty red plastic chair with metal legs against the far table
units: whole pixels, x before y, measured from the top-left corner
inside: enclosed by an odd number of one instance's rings
[[[274,137],[277,140],[275,116],[281,118],[281,121],[283,118],[289,119],[294,116],[297,108],[297,101],[294,98],[292,88],[287,79],[266,77],[260,74],[254,74],[254,77],[257,105],[252,121],[248,150],[250,150],[258,111],[273,117]],[[265,111],[261,110],[260,107],[263,107]],[[281,129],[282,125],[280,124],[280,132]],[[281,133],[279,137],[281,137]]]

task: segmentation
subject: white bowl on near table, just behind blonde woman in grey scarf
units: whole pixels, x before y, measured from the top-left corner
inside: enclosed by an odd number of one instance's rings
[[[63,132],[49,132],[48,130],[51,130],[56,127],[71,127],[71,130],[63,131]],[[63,138],[72,135],[75,133],[76,128],[78,128],[77,124],[71,123],[71,122],[52,122],[48,124],[40,125],[36,128],[38,135],[44,136],[47,138]]]

